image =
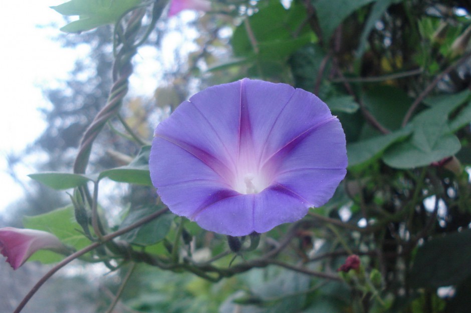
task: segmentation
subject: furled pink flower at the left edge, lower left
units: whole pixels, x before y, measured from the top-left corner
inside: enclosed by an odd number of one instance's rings
[[[40,249],[67,251],[67,247],[52,233],[15,227],[0,228],[0,253],[17,269]]]

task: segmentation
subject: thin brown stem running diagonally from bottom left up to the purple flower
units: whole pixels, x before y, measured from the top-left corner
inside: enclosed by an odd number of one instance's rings
[[[57,265],[55,265],[53,268],[51,268],[51,270],[49,270],[34,286],[33,288],[30,290],[30,292],[28,292],[28,294],[23,298],[23,300],[20,302],[20,304],[18,305],[18,307],[15,309],[14,313],[19,313],[22,311],[22,309],[25,307],[26,303],[28,303],[28,301],[33,297],[33,295],[39,290],[39,288],[49,279],[51,278],[52,275],[54,275],[59,269],[61,269],[62,267],[64,267],[65,265],[69,264],[71,261],[73,261],[74,259],[84,255],[85,253],[87,252],[90,252],[92,251],[93,249],[96,249],[97,247],[101,246],[103,243],[107,242],[107,241],[110,241],[111,239],[114,239],[116,238],[117,236],[120,236],[134,228],[137,228],[139,226],[142,226],[143,224],[145,223],[148,223],[149,221],[159,217],[160,215],[162,215],[163,213],[167,212],[168,208],[163,208],[159,211],[156,211],[155,213],[152,213],[150,215],[147,215],[146,217],[138,220],[137,222],[135,222],[134,224],[131,224],[127,227],[124,227],[122,229],[119,229],[115,232],[112,232],[112,233],[109,233],[107,235],[104,235],[102,237],[102,241],[97,241],[97,242],[93,242],[92,244],[84,247],[83,249],[81,250],[78,250],[77,252],[75,253],[72,253],[71,255],[67,256],[66,258],[64,258],[62,261],[60,261]]]

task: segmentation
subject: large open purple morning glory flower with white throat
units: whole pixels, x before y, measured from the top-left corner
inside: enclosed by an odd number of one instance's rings
[[[332,197],[345,134],[314,94],[245,78],[181,103],[156,127],[149,167],[175,214],[232,236],[266,232]]]

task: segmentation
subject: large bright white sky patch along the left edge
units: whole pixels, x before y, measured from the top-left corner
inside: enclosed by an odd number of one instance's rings
[[[22,188],[6,174],[9,152],[20,152],[44,130],[39,108],[48,107],[40,86],[67,78],[76,58],[70,49],[61,48],[52,38],[59,34],[54,27],[37,27],[57,22],[61,14],[49,6],[63,0],[3,1],[0,10],[0,212],[16,198]],[[28,179],[24,178],[25,181]]]

